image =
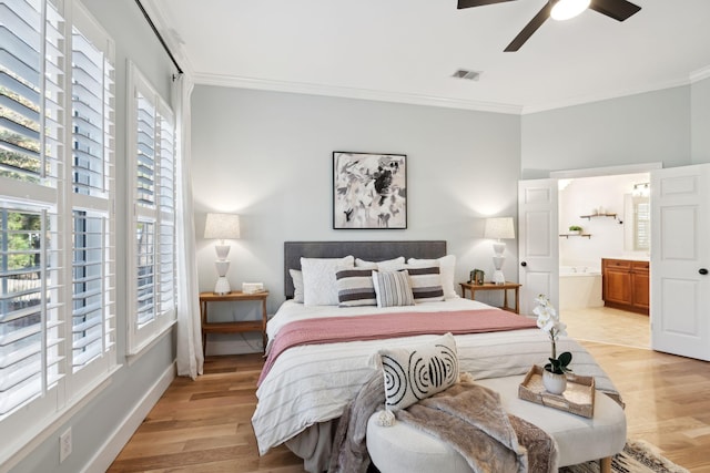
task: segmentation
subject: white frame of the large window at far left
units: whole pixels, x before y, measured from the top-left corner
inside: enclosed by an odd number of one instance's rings
[[[32,25],[28,22],[29,17],[20,17],[23,23],[17,23],[11,34],[32,32],[34,44],[39,44],[36,51],[39,52],[39,62],[42,65],[38,70],[38,75],[34,76],[38,84],[38,91],[34,93],[40,101],[37,122],[40,143],[38,155],[41,164],[37,177],[19,181],[11,176],[0,176],[0,204],[18,212],[42,212],[48,216],[48,222],[51,222],[40,238],[45,241],[42,254],[47,259],[41,264],[41,270],[42,284],[53,287],[50,307],[55,311],[57,320],[42,318],[41,331],[47,333],[51,323],[61,338],[57,345],[60,358],[57,362],[59,379],[52,382],[43,381],[41,392],[0,415],[0,432],[12,432],[12,435],[2,435],[7,442],[0,445],[0,464],[17,461],[32,445],[45,439],[52,428],[71,415],[75,409],[89,402],[105,387],[111,374],[120,368],[115,343],[115,47],[110,34],[79,1],[39,0],[38,4],[40,4],[40,11],[37,16],[30,16],[38,23]],[[31,13],[27,9],[36,11],[29,3],[16,3],[8,8],[12,11],[23,9],[23,13]],[[48,27],[45,23],[48,17],[55,19],[57,29]],[[89,41],[90,45],[97,49],[101,62],[100,69],[105,74],[100,81],[97,81],[95,76],[91,78],[92,82],[100,82],[102,89],[101,96],[97,95],[94,101],[94,105],[97,101],[101,103],[98,119],[94,120],[97,126],[91,125],[91,120],[84,122],[87,127],[93,128],[93,137],[99,138],[93,144],[100,147],[102,163],[99,166],[102,189],[97,195],[77,194],[73,188],[75,171],[73,151],[74,138],[78,136],[74,133],[73,122],[73,86],[77,84],[75,80],[79,84],[85,83],[72,64],[75,54],[72,34],[74,28]],[[52,40],[48,39],[48,34],[52,34],[53,31],[57,31],[57,35]],[[8,51],[14,52],[12,47]],[[54,59],[54,62],[44,65],[50,59]],[[8,71],[17,76],[28,76],[23,75],[28,70],[22,72],[13,69],[11,64],[8,64]],[[57,79],[52,80],[53,76]],[[84,78],[88,82],[89,76],[84,75]],[[95,88],[93,92],[97,92]],[[101,136],[97,136],[97,133]],[[80,171],[79,175],[81,174]],[[101,332],[99,337],[101,346],[95,354],[84,360],[80,369],[72,368],[74,364],[72,333],[77,332],[72,331],[74,210],[100,214],[102,218],[100,224],[102,234],[98,240],[101,244],[101,258],[97,259],[102,268],[100,271],[102,297],[99,302],[100,310],[97,312],[100,321],[99,325],[95,325],[95,319],[92,322],[94,323],[92,330]],[[50,273],[55,277],[48,279],[44,274]],[[83,332],[83,330],[79,331]],[[42,342],[43,347],[44,345],[45,342]],[[43,356],[44,350],[47,349],[42,348]],[[40,373],[42,377],[50,376],[44,370]]]

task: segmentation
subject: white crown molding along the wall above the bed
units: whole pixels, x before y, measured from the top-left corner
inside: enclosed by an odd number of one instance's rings
[[[413,105],[440,106],[446,109],[475,110],[519,115],[523,107],[493,102],[467,101],[432,95],[419,95],[402,92],[375,91],[368,89],[342,88],[336,85],[310,84],[302,82],[272,81],[265,79],[240,78],[223,74],[195,73],[195,84],[217,85],[225,88],[254,89],[273,92],[290,92],[308,95],[336,96],[377,102],[395,102]]]

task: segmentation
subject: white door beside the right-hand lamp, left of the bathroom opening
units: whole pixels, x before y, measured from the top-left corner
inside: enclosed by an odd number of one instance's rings
[[[557,199],[557,179],[518,183],[520,313],[532,313],[534,300],[540,294],[559,307]]]

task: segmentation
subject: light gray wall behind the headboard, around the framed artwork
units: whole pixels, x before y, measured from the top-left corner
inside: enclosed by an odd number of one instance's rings
[[[236,288],[263,281],[271,313],[284,300],[285,240],[446,239],[457,281],[474,267],[491,275],[480,219],[516,215],[519,116],[203,85],[192,106],[201,290],[215,280],[213,241],[201,240],[213,210],[242,216],[229,279]],[[406,230],[332,228],[334,151],[407,155]],[[517,280],[516,245],[508,248],[504,270]],[[215,310],[225,312],[215,320],[257,317],[254,308]],[[210,340],[234,349],[234,337]]]

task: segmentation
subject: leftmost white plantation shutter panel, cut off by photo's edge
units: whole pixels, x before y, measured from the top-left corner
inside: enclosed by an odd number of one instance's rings
[[[1,420],[49,399],[64,376],[57,207],[64,22],[38,1],[0,1],[0,18]]]

